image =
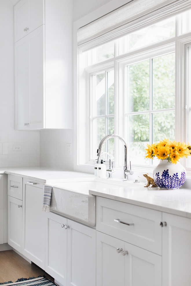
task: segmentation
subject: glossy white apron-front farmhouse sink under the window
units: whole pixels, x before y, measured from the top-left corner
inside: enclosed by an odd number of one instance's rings
[[[129,187],[132,183],[105,178],[65,179],[52,188],[50,210],[78,222],[96,225],[96,197],[92,189]]]

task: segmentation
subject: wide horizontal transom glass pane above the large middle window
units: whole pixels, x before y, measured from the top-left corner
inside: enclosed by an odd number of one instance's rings
[[[119,55],[175,37],[175,17],[155,23],[119,39]]]

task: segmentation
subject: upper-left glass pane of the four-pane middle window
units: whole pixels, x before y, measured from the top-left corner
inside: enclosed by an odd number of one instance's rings
[[[149,110],[149,60],[128,66],[128,112]]]

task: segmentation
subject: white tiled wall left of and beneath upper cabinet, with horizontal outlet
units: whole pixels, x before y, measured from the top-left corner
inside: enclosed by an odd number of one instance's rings
[[[13,3],[0,0],[0,167],[39,166],[40,131],[14,130],[13,19]]]

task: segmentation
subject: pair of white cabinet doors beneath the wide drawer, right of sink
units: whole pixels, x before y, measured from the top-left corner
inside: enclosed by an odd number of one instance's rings
[[[96,286],[161,286],[160,255],[99,231],[96,261]]]

